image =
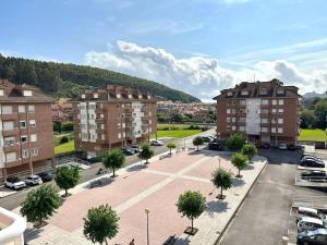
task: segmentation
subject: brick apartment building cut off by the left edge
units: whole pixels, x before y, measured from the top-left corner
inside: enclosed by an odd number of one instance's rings
[[[52,166],[51,102],[36,87],[0,79],[0,179]]]

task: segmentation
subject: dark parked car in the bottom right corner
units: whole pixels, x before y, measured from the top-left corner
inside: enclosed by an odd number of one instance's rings
[[[317,229],[314,231],[301,231],[298,233],[298,245],[326,245],[327,229]]]

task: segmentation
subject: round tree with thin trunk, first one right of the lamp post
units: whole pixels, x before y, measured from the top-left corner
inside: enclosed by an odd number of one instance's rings
[[[191,220],[191,234],[193,233],[193,221],[198,218],[206,208],[206,198],[199,192],[186,191],[180,195],[178,211]]]

